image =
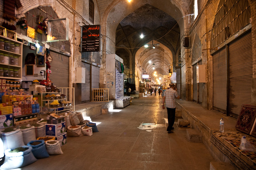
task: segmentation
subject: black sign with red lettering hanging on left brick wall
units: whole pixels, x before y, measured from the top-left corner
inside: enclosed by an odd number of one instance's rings
[[[82,26],[82,52],[100,51],[100,25]]]

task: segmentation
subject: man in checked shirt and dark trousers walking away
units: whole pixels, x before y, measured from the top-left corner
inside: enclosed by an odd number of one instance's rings
[[[175,120],[175,110],[176,110],[176,101],[175,98],[180,99],[180,96],[178,95],[177,91],[174,90],[175,85],[171,84],[170,89],[166,90],[164,92],[164,97],[162,101],[162,109],[165,109],[164,103],[166,104],[167,109],[167,115],[168,115],[168,127],[167,131],[168,134],[173,133],[174,127],[174,120]]]

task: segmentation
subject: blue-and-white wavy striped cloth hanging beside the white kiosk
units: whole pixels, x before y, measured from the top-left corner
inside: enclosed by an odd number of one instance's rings
[[[124,96],[124,81],[123,81],[123,73],[119,73],[116,69],[116,100],[125,100],[130,98],[130,96]]]

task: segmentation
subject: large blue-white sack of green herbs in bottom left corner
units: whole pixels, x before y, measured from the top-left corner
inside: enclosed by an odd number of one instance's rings
[[[36,162],[37,159],[32,153],[31,146],[22,146],[15,149],[5,150],[5,162],[0,167],[1,169],[20,168]]]

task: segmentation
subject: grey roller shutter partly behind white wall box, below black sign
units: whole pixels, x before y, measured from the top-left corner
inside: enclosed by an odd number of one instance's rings
[[[81,101],[90,102],[91,98],[91,64],[82,62],[82,68],[85,68],[85,83],[81,84]]]

